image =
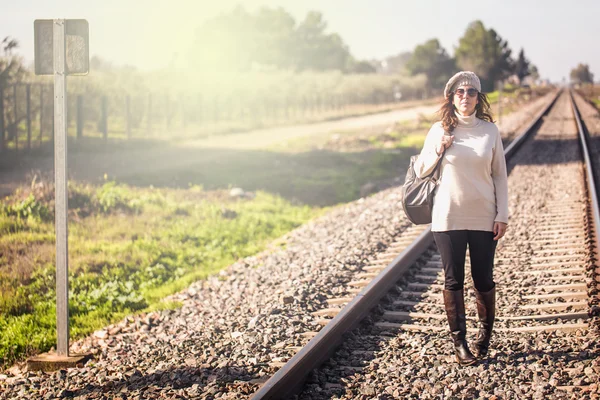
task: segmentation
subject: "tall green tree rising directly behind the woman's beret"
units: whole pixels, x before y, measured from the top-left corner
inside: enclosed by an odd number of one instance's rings
[[[483,91],[493,90],[495,81],[507,78],[513,71],[508,42],[495,30],[485,29],[481,21],[469,24],[459,40],[455,58],[461,69],[479,76]]]

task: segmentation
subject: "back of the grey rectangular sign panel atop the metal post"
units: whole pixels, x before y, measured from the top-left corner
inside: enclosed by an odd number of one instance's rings
[[[66,74],[86,75],[90,69],[88,22],[85,19],[65,21]],[[36,75],[54,75],[53,24],[51,19],[36,19],[33,23]]]

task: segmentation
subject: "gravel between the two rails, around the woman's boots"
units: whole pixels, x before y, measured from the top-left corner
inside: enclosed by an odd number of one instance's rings
[[[547,233],[544,216],[553,210],[585,209],[583,168],[578,162],[579,147],[575,141],[567,97],[561,96],[546,117],[534,141],[524,148],[509,164],[510,221],[506,237],[495,266],[497,283],[496,331],[492,336],[490,357],[480,363],[460,367],[454,360],[447,328],[414,332],[378,327],[384,314],[375,313],[350,335],[336,355],[322,368],[311,374],[300,399],[593,399],[600,397],[600,321],[598,317],[569,321],[502,321],[501,317],[546,314],[523,311],[519,307],[532,304],[523,296],[536,293],[554,293],[541,286],[549,284],[543,274],[524,279],[522,272],[532,271],[536,257],[549,255],[569,261],[576,260],[589,267],[583,283],[589,293],[597,295],[598,274],[590,254],[569,254],[559,250],[540,249],[533,242]],[[583,214],[582,214],[583,215]],[[574,217],[573,220],[583,220]],[[583,224],[582,224],[583,226]],[[583,229],[582,229],[583,230]],[[585,238],[574,237],[586,248]],[[551,240],[548,241],[548,246]],[[564,254],[564,256],[556,256]],[[422,264],[422,263],[420,263]],[[420,266],[416,266],[418,270]],[[538,268],[543,270],[544,268]],[[441,275],[441,274],[440,274]],[[476,328],[474,293],[467,268],[466,303],[469,328]],[[412,281],[407,278],[406,281]],[[441,283],[441,276],[436,283]],[[562,283],[562,282],[561,282]],[[581,280],[579,283],[582,283]],[[556,284],[556,283],[554,283]],[[406,282],[402,283],[406,289]],[[441,289],[431,288],[431,293]],[[400,292],[401,294],[401,292]],[[393,298],[393,295],[390,297]],[[418,301],[418,300],[417,300]],[[565,301],[558,299],[557,301]],[[592,310],[590,301],[584,311]],[[386,310],[405,308],[384,305]],[[443,314],[441,300],[422,300],[414,311]],[[552,313],[549,311],[547,313]],[[576,331],[515,333],[503,328],[547,326],[558,323],[589,323],[589,328]],[[423,319],[410,324],[445,327],[445,319]],[[473,343],[475,333],[467,339]],[[561,388],[567,386],[568,388]],[[578,386],[585,387],[584,390]]]

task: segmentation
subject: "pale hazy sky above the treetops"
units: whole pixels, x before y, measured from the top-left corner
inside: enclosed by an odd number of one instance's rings
[[[513,53],[525,50],[540,76],[569,78],[578,63],[600,79],[600,1],[595,0],[0,0],[0,40],[20,42],[18,53],[33,61],[33,21],[84,18],[90,54],[144,70],[185,57],[198,26],[236,5],[248,11],[282,7],[297,22],[322,12],[357,59],[383,59],[437,38],[454,54],[468,24],[481,20]]]

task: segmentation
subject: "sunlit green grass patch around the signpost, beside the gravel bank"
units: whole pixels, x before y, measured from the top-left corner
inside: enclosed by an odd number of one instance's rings
[[[55,344],[51,188],[22,191],[0,212],[0,364]],[[83,201],[82,199],[86,199]],[[324,210],[257,192],[70,185],[70,333],[177,307],[162,299],[265,249]],[[81,215],[86,215],[81,217]]]

